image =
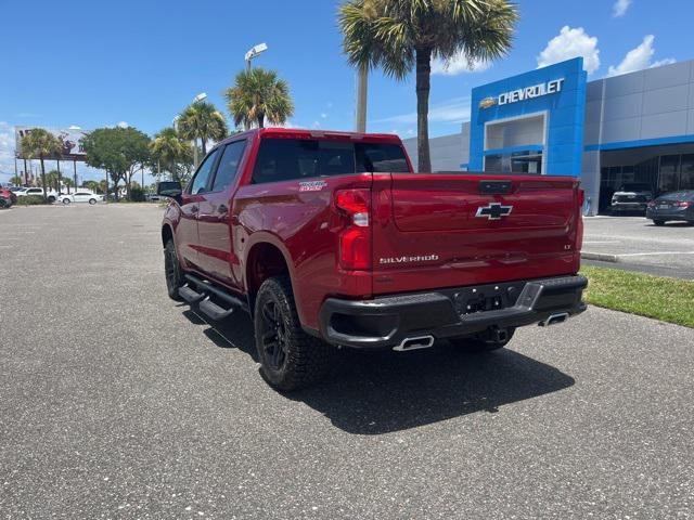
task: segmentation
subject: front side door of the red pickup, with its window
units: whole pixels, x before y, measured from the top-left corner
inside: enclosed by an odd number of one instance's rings
[[[195,176],[181,194],[181,218],[176,229],[176,242],[178,253],[190,266],[201,270],[198,262],[197,213],[200,204],[204,200],[204,194],[208,188],[214,173],[219,148],[214,150],[200,165]],[[202,271],[202,270],[201,270]]]

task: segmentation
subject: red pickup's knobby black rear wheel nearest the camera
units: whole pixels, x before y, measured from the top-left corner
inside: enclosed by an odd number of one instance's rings
[[[274,388],[282,391],[306,388],[329,373],[335,348],[304,332],[287,276],[268,278],[260,286],[254,329],[260,373]],[[283,356],[273,355],[272,338]]]

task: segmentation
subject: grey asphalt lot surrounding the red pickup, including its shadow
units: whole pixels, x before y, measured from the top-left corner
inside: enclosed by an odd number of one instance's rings
[[[0,518],[692,516],[693,329],[591,308],[283,395],[167,298],[160,213],[0,214]]]

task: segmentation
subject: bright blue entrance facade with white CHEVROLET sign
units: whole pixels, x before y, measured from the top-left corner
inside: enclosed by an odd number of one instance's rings
[[[586,78],[577,57],[473,89],[468,169],[580,176]]]

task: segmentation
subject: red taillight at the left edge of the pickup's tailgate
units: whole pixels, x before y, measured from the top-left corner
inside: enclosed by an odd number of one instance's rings
[[[339,234],[339,265],[343,269],[371,269],[371,191],[339,190],[335,192],[335,206],[347,220]]]

